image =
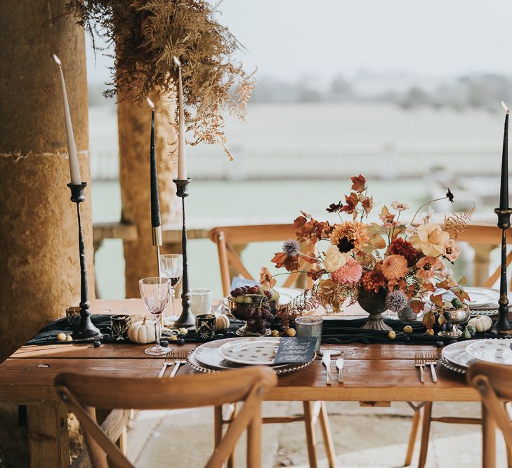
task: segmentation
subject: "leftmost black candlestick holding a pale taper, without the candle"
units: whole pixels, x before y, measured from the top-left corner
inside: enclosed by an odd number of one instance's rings
[[[80,323],[72,333],[73,340],[86,340],[102,336],[102,333],[91,321],[91,303],[88,299],[87,272],[85,262],[84,236],[81,232],[80,203],[85,200],[84,189],[87,182],[81,184],[67,184],[71,190],[71,201],[77,203],[78,216],[78,249],[80,253]]]

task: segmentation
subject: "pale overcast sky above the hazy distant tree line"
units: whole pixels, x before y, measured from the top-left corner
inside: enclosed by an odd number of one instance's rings
[[[260,77],[512,75],[510,0],[224,0],[218,9]],[[109,64],[88,48],[91,83],[107,79]]]

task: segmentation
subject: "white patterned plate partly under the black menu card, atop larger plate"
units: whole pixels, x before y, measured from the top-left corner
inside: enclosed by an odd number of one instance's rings
[[[218,354],[237,364],[271,366],[274,363],[280,338],[244,337],[218,348]]]

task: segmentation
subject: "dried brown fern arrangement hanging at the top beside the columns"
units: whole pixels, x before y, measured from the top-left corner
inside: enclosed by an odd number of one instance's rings
[[[182,64],[185,119],[192,145],[220,144],[228,151],[225,111],[242,121],[256,84],[254,74],[234,59],[240,47],[206,0],[69,0],[67,14],[94,37],[115,46],[107,97],[119,88],[133,90],[142,101],[155,90],[174,91]]]

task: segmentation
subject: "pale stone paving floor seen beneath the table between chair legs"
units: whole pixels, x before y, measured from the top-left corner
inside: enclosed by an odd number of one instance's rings
[[[361,408],[358,403],[327,403],[338,467],[402,467],[412,421],[406,403],[390,408]],[[265,403],[265,415],[301,413],[300,403]],[[434,403],[434,416],[479,417],[477,403]],[[328,467],[317,427],[319,467]],[[506,467],[504,442],[497,436],[497,467]],[[263,467],[308,468],[303,424],[263,427]],[[129,458],[138,468],[204,466],[213,446],[213,410],[137,413],[128,434]],[[412,467],[417,465],[419,437]],[[428,468],[480,467],[480,427],[433,423]],[[245,467],[244,441],[237,449],[237,467]]]

